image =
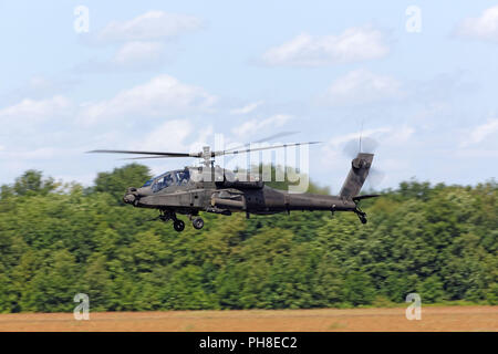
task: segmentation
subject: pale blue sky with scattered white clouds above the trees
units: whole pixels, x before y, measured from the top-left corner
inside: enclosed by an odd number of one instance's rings
[[[309,174],[333,192],[360,135],[378,189],[497,177],[498,2],[0,1],[0,184],[280,132],[322,142]]]

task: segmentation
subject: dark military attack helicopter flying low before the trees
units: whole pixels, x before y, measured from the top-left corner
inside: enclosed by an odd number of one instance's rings
[[[142,187],[128,187],[123,201],[137,208],[152,208],[159,211],[155,219],[173,221],[173,227],[180,232],[185,222],[177,215],[185,215],[195,229],[204,227],[199,212],[212,212],[230,216],[232,212],[250,215],[272,215],[291,211],[328,210],[350,211],[356,214],[362,223],[366,223],[366,214],[359,204],[363,199],[378,195],[360,195],[360,190],[369,176],[374,154],[362,153],[361,149],[351,162],[351,169],[338,196],[314,194],[292,194],[264,185],[258,177],[239,178],[232,170],[215,166],[215,158],[225,155],[247,154],[263,149],[286,148],[300,145],[312,145],[320,142],[283,144],[270,147],[247,148],[250,144],[234,149],[211,150],[204,146],[198,153],[165,153],[96,149],[87,153],[143,155],[128,159],[194,157],[203,160],[200,167],[185,167],[166,171],[147,180]]]

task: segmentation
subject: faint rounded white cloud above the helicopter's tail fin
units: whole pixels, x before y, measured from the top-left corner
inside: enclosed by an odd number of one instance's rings
[[[336,79],[324,101],[332,105],[357,105],[401,97],[401,83],[386,75],[355,70]]]

